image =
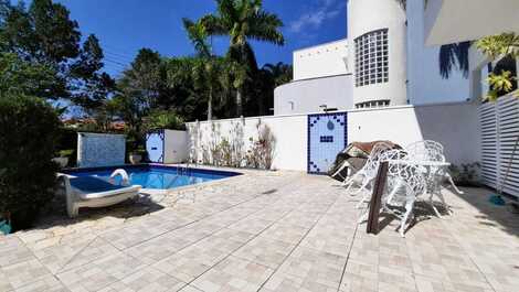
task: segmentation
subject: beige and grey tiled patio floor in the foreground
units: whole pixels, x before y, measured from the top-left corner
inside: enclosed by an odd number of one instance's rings
[[[447,195],[401,238],[328,177],[251,172],[0,238],[0,291],[519,291],[519,216]],[[195,195],[195,201],[190,198]]]

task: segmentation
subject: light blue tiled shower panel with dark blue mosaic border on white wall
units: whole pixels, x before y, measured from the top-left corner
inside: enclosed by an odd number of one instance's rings
[[[326,174],[348,144],[347,112],[308,116],[308,173]]]

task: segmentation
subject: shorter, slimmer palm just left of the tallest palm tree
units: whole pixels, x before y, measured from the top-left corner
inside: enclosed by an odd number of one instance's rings
[[[188,37],[197,51],[197,58],[192,67],[192,77],[195,87],[206,89],[208,94],[208,120],[213,119],[213,97],[215,89],[225,83],[222,72],[225,71],[226,62],[222,57],[212,54],[212,47],[208,42],[208,33],[200,22],[183,19],[183,25]]]

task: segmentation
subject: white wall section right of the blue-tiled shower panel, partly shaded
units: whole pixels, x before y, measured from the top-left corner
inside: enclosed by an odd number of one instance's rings
[[[480,161],[476,104],[403,106],[348,112],[348,141],[391,140],[405,147],[434,140],[455,164]]]

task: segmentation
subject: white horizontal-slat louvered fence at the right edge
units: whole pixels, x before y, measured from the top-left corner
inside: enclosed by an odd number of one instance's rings
[[[479,117],[483,182],[519,196],[519,147],[512,155],[519,141],[519,100],[507,96],[481,105]]]

